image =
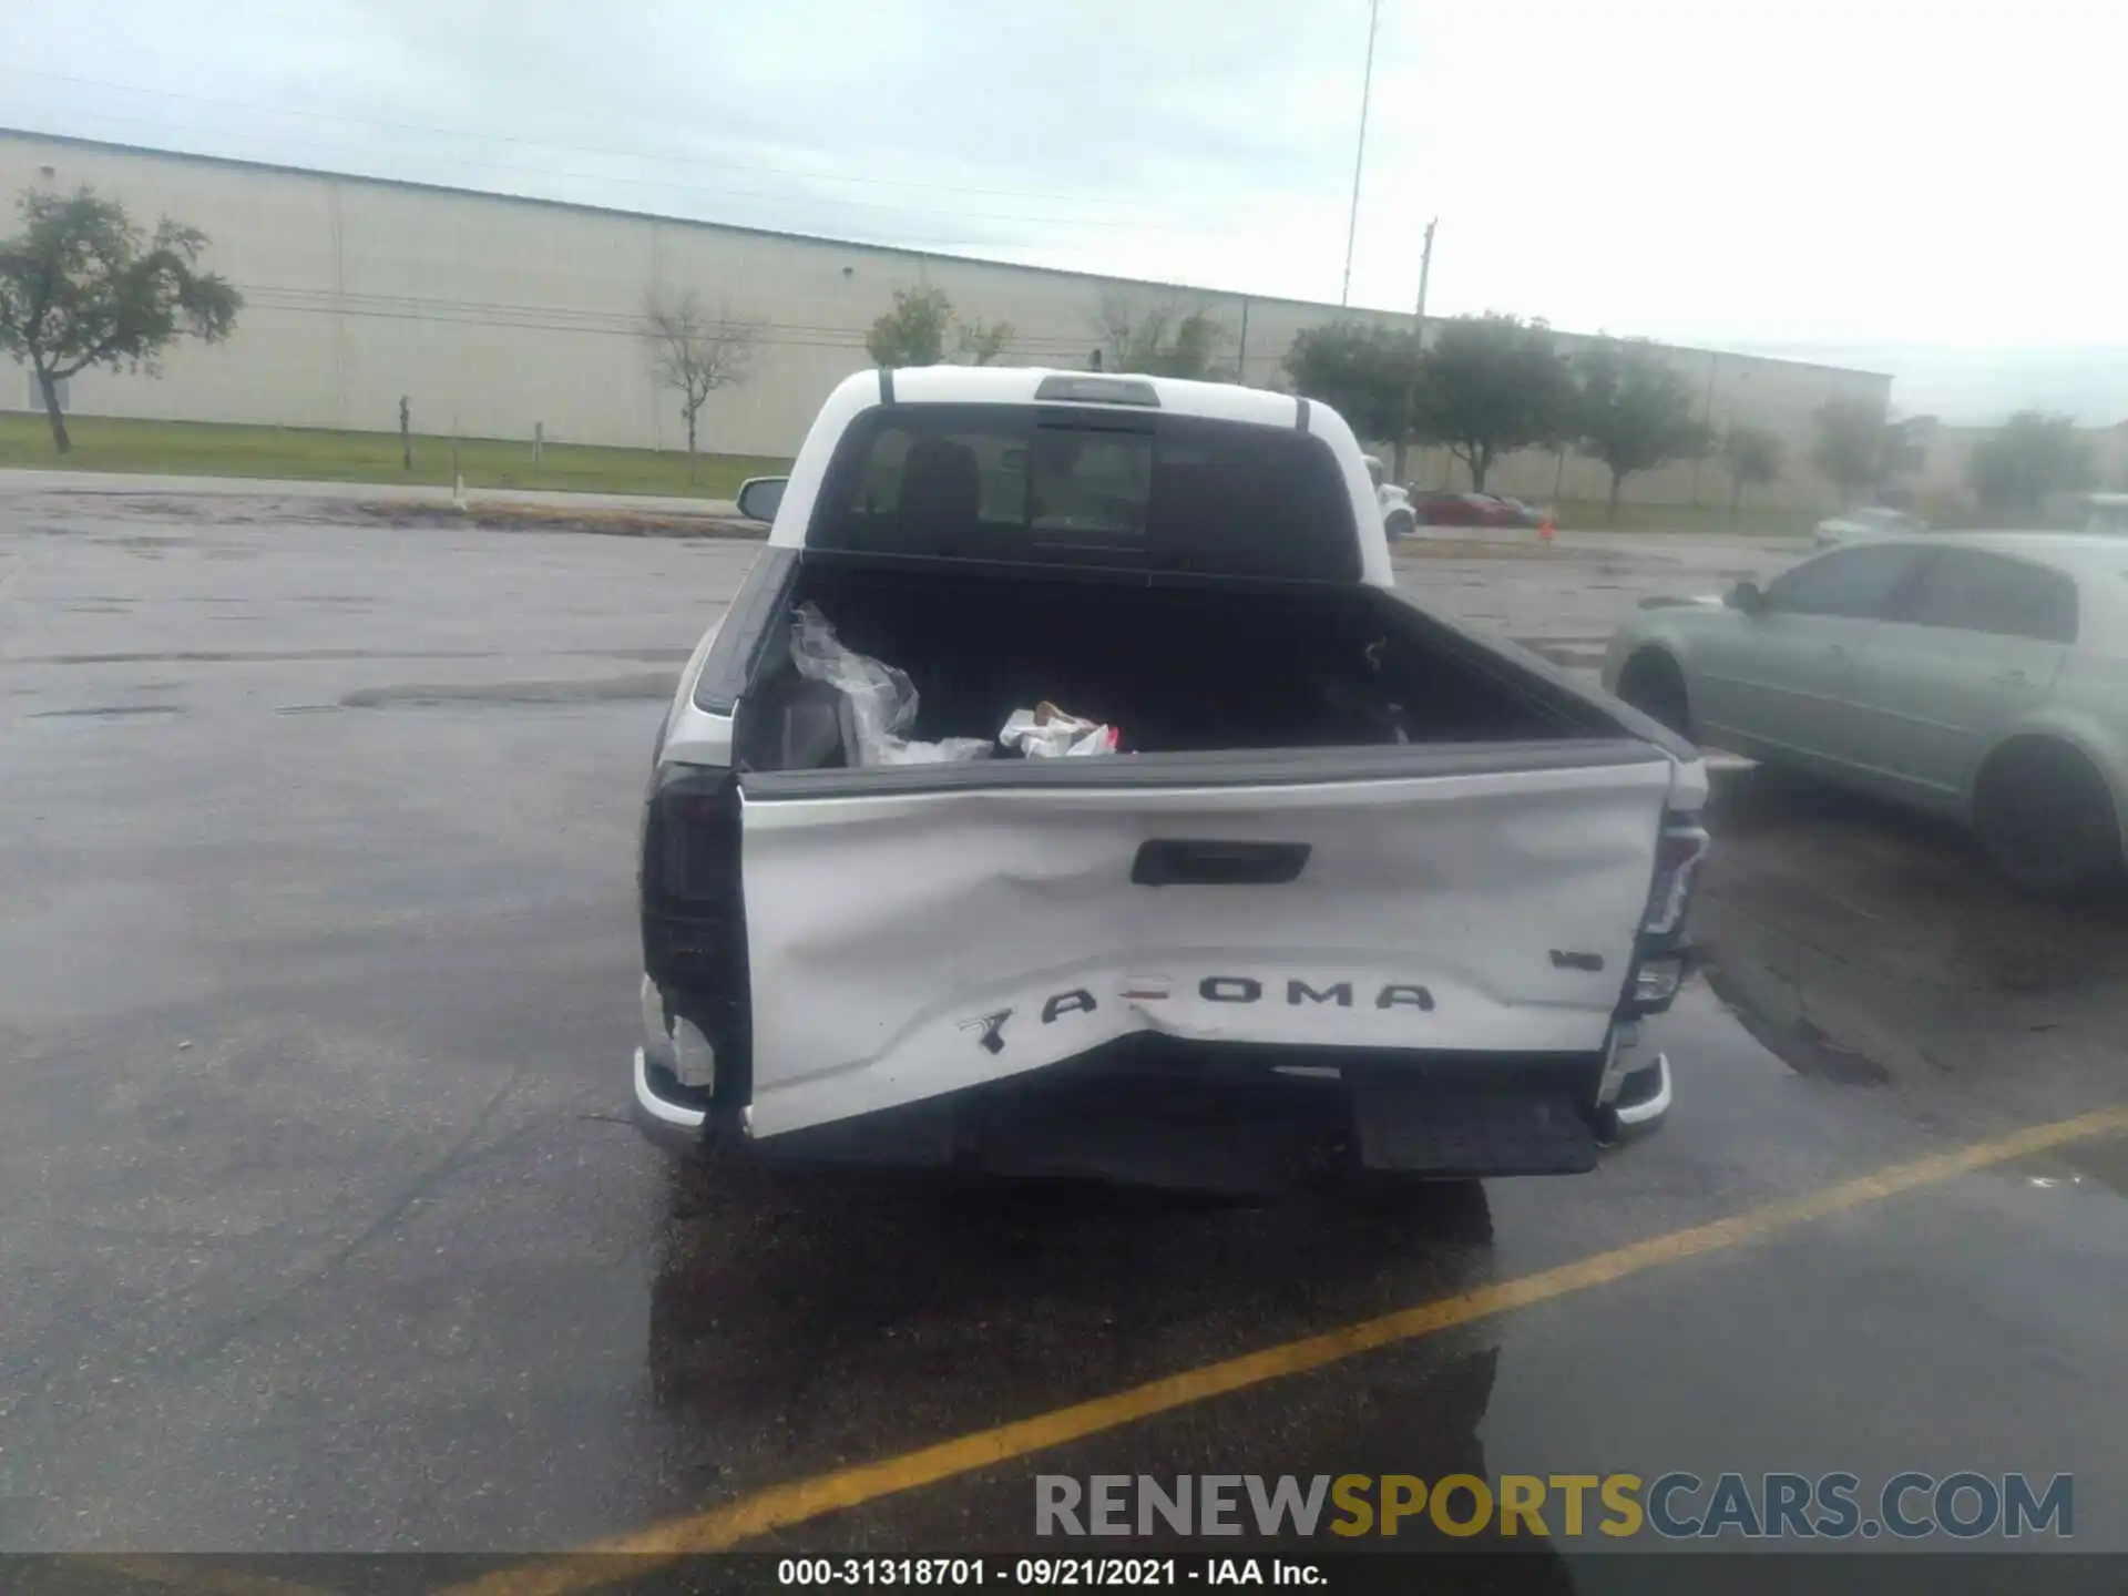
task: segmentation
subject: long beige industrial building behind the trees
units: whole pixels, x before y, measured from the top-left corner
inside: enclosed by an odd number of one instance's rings
[[[787,455],[836,381],[868,366],[866,330],[898,287],[934,285],[955,313],[1007,321],[1011,364],[1085,366],[1104,304],[1209,309],[1228,362],[1283,385],[1296,332],[1341,317],[1409,326],[1409,315],[1249,298],[1162,283],[1007,266],[877,245],[523,200],[419,183],[338,177],[126,145],[0,132],[0,196],[92,185],[136,219],[170,215],[211,238],[206,266],[245,294],[221,347],[174,347],[160,379],[83,372],[77,415],[260,421],[392,432],[404,396],[415,428],[466,436],[685,447],[670,392],[643,343],[651,296],[696,294],[758,321],[749,379],[702,413],[702,447]],[[0,221],[0,228],[9,228]],[[1577,338],[1562,334],[1562,347]],[[1673,349],[1713,426],[1751,421],[1788,443],[1788,472],[1753,502],[1819,504],[1807,464],[1811,415],[1828,400],[1885,406],[1890,377],[1705,349]],[[23,368],[0,370],[0,406],[38,409]],[[1407,472],[1466,485],[1443,451]],[[1600,498],[1607,475],[1573,453],[1517,455],[1490,483],[1530,498]],[[1677,464],[1632,479],[1639,502],[1719,502],[1719,466]]]

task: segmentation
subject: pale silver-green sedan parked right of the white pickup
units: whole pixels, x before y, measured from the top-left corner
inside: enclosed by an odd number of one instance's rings
[[[1645,606],[1605,685],[1673,730],[1971,826],[2071,892],[2128,834],[2128,538],[1962,532],[1832,549]]]

